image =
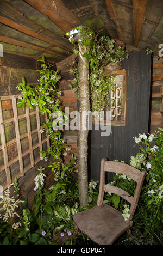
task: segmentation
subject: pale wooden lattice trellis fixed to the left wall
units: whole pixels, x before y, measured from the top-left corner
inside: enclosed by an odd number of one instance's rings
[[[36,107],[36,110],[33,112],[29,112],[29,107],[26,106],[26,113],[18,115],[17,114],[17,105],[16,105],[16,99],[20,95],[12,95],[12,96],[1,96],[0,97],[0,135],[1,135],[1,145],[0,145],[0,150],[2,150],[3,153],[3,160],[4,164],[0,166],[0,173],[5,170],[5,175],[7,177],[7,181],[4,182],[4,184],[1,184],[3,186],[3,190],[5,190],[13,181],[14,178],[20,178],[21,176],[24,176],[24,173],[26,173],[31,167],[34,167],[36,163],[40,161],[40,158],[42,157],[42,154],[37,157],[37,159],[34,160],[34,149],[39,148],[39,151],[42,151],[42,144],[47,142],[47,147],[49,147],[50,142],[49,142],[49,137],[46,137],[44,139],[41,138],[41,133],[40,129],[42,129],[44,126],[40,126],[40,112],[39,108]],[[3,120],[3,112],[2,112],[2,101],[5,100],[11,100],[12,101],[12,111],[13,111],[13,117],[9,119]],[[30,117],[32,115],[36,116],[36,123],[37,123],[37,129],[31,130],[31,125],[30,125]],[[27,133],[24,133],[20,135],[20,128],[18,125],[18,121],[21,120],[22,118],[26,118],[27,121]],[[47,120],[47,116],[45,117]],[[4,125],[8,123],[14,123],[14,129],[15,129],[15,138],[11,139],[10,141],[6,142],[5,139],[5,130],[4,130]],[[34,133],[37,133],[38,136],[38,141],[39,143],[36,143],[33,145],[32,142],[32,135]],[[22,152],[21,148],[21,139],[23,138],[28,138],[28,145],[29,148],[25,151]],[[14,157],[13,159],[9,160],[8,157],[8,147],[12,144],[16,143],[17,144],[17,156]],[[26,155],[30,155],[30,164],[27,166],[23,165],[23,157]],[[10,166],[15,163],[19,162],[19,167],[20,167],[20,172],[16,173],[15,175],[11,176],[11,170]]]

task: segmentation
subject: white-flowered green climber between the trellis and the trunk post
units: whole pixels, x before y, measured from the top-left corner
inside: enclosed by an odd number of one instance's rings
[[[43,123],[45,129],[41,129],[40,133],[46,133],[45,136],[49,136],[51,139],[51,145],[46,151],[41,151],[41,160],[47,161],[52,155],[54,162],[49,166],[55,173],[55,181],[59,181],[64,184],[67,179],[67,172],[70,174],[76,167],[77,158],[72,154],[72,164],[65,164],[64,156],[67,155],[70,150],[65,144],[65,139],[61,135],[61,126],[67,125],[65,113],[60,106],[59,97],[61,96],[61,90],[57,88],[57,82],[60,79],[58,70],[52,70],[52,66],[45,62],[45,58],[38,60],[42,62],[41,70],[37,70],[40,74],[40,79],[36,87],[31,87],[26,84],[24,77],[22,83],[18,83],[18,90],[22,96],[21,100],[17,103],[17,106],[22,106],[23,109],[27,105],[30,109],[38,107],[39,111],[45,115],[47,114],[47,120]],[[55,115],[54,115],[55,112]],[[61,125],[61,126],[60,126]]]

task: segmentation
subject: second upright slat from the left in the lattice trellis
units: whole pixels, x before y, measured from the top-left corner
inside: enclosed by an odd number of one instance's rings
[[[20,132],[19,132],[19,127],[18,127],[17,105],[16,105],[15,95],[12,96],[12,106],[13,106],[13,113],[14,113],[17,153],[18,153],[18,160],[19,160],[19,164],[20,164],[20,172],[21,172],[22,176],[24,176],[24,167],[23,167],[23,158],[22,158]]]

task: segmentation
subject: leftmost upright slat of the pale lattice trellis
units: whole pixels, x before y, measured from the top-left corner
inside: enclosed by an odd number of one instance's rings
[[[0,134],[1,134],[3,159],[4,159],[4,168],[5,168],[5,173],[6,173],[6,176],[7,176],[7,185],[9,186],[11,184],[11,175],[10,175],[10,168],[9,168],[7,145],[6,145],[6,142],[5,142],[5,133],[4,133],[4,126],[3,126],[1,100],[0,100],[0,127],[1,127]]]

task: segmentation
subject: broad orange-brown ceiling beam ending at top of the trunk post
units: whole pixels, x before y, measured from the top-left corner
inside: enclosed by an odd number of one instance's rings
[[[49,17],[65,33],[80,25],[79,20],[61,0],[25,0],[33,8]]]

